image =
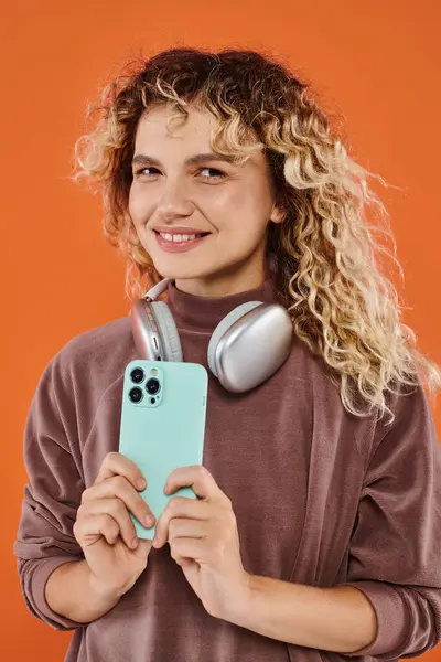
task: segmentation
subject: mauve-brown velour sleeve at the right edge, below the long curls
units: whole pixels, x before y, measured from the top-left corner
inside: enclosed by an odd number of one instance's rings
[[[348,559],[347,585],[368,598],[378,630],[348,656],[413,658],[441,640],[441,449],[421,385],[395,414],[379,426]]]

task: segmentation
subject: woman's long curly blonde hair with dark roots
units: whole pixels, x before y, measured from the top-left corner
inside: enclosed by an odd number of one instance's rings
[[[173,49],[136,60],[89,110],[99,118],[75,146],[75,179],[98,184],[105,234],[127,258],[128,296],[160,278],[128,212],[137,126],[157,104],[183,119],[190,105],[212,113],[214,151],[238,161],[250,149],[265,153],[283,214],[268,233],[278,296],[297,337],[325,362],[347,412],[389,413],[391,424],[388,393],[421,380],[434,395],[441,370],[400,322],[404,307],[377,260],[380,254],[392,259],[402,277],[387,212],[368,185],[369,177],[385,181],[348,156],[311,86],[255,51]],[[391,238],[392,253],[377,235]]]

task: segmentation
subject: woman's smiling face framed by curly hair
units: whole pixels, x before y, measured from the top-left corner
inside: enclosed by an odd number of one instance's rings
[[[239,164],[213,152],[215,118],[190,108],[168,129],[165,106],[139,122],[129,213],[157,270],[200,296],[258,287],[267,233],[279,223],[267,161],[255,151]]]

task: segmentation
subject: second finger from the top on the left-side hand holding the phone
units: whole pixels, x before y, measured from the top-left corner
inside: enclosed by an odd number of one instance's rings
[[[120,499],[137,520],[148,528],[155,522],[146,501],[122,476],[114,476],[85,490],[82,494],[82,504],[98,499]]]

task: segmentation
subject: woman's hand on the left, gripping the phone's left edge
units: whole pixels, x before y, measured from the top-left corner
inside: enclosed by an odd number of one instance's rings
[[[139,490],[146,488],[140,470],[125,456],[108,453],[95,483],[82,495],[74,535],[90,568],[94,587],[122,596],[146,569],[151,541],[137,537],[129,511],[146,526],[154,516]]]

